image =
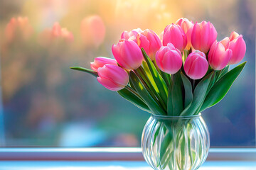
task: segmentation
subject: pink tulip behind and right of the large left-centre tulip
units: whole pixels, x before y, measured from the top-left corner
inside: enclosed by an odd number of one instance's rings
[[[151,60],[154,60],[156,51],[162,46],[161,40],[153,30],[146,29],[137,35],[137,44],[140,48],[144,48]]]

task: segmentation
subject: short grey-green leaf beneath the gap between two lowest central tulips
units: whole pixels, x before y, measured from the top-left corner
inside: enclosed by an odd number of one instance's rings
[[[188,105],[193,100],[193,91],[191,81],[181,72],[181,79],[183,81],[183,86],[185,89],[185,100],[184,100],[184,108],[188,107]]]

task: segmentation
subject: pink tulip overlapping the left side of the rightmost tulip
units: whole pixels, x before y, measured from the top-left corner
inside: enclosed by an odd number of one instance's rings
[[[208,55],[210,67],[215,70],[224,69],[232,57],[232,50],[228,49],[228,46],[227,38],[223,39],[223,43],[213,42]]]

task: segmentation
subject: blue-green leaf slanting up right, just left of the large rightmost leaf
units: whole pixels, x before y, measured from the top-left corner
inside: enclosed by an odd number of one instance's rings
[[[181,115],[195,115],[198,113],[199,108],[202,106],[206,98],[206,92],[212,79],[213,72],[204,77],[196,86],[193,92],[192,102],[184,109]]]

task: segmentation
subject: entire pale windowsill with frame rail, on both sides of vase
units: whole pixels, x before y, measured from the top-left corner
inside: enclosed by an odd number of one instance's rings
[[[140,148],[0,148],[2,170],[148,170]],[[255,170],[256,149],[213,148],[200,170]]]

